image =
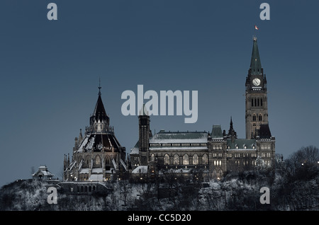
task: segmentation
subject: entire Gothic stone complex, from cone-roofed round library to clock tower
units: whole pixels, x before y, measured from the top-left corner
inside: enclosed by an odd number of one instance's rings
[[[150,115],[143,107],[138,116],[139,139],[128,158],[110,126],[100,90],[84,137],[80,130],[71,160],[65,155],[63,180],[104,181],[121,178],[123,174],[152,178],[168,172],[184,177],[200,174],[209,180],[219,179],[225,173],[271,166],[275,137],[269,129],[267,79],[256,37],[245,86],[245,139],[237,137],[231,118],[228,132],[213,125],[211,132],[161,130],[152,134]]]

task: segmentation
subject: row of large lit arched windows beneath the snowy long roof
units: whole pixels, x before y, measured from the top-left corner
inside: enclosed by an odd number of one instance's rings
[[[171,165],[170,156],[168,154],[164,155],[164,165]],[[182,165],[190,165],[190,158],[192,158],[192,165],[198,165],[199,164],[199,156],[197,154],[194,154],[193,156],[189,156],[188,154],[184,154],[182,158]],[[151,161],[155,161],[155,155],[151,155]],[[208,164],[208,155],[203,154],[201,156],[202,164],[207,165]],[[174,154],[173,156],[173,165],[179,165],[180,159],[178,154]]]

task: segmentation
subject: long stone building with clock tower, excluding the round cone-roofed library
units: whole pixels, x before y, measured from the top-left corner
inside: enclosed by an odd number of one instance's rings
[[[275,137],[268,122],[267,79],[259,57],[257,38],[253,39],[250,69],[245,82],[246,138],[237,138],[230,118],[228,132],[213,125],[211,132],[167,132],[152,135],[150,116],[140,110],[139,140],[130,152],[133,175],[162,175],[172,171],[205,179],[222,178],[272,165]]]

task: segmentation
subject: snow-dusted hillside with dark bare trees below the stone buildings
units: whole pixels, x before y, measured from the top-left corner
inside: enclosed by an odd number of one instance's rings
[[[57,188],[57,204],[49,204],[47,185],[37,180],[17,180],[0,190],[0,210],[33,211],[165,211],[165,210],[319,210],[318,170],[306,180],[275,173],[247,171],[211,183],[165,180],[165,183],[108,183],[113,190],[69,194]],[[260,188],[270,190],[270,204],[262,204]]]

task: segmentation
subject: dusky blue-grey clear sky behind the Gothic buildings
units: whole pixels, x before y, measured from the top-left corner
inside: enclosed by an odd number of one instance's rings
[[[47,4],[57,4],[57,21]],[[259,18],[262,2],[270,21]],[[61,177],[64,154],[89,125],[99,77],[116,137],[130,151],[138,117],[121,93],[198,91],[198,120],[151,117],[151,129],[229,129],[245,138],[245,79],[254,24],[268,81],[276,153],[319,147],[318,1],[0,2],[0,185],[45,164]]]

